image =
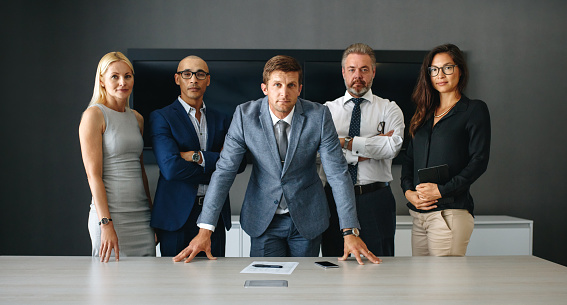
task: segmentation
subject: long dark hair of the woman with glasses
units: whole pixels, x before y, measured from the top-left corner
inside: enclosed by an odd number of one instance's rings
[[[455,64],[459,67],[459,72],[461,74],[459,77],[459,83],[457,84],[457,91],[459,94],[463,93],[469,80],[469,69],[467,68],[463,52],[461,52],[459,47],[448,43],[437,46],[431,50],[423,59],[417,84],[415,85],[411,95],[411,99],[417,106],[410,122],[409,132],[412,137],[415,135],[417,129],[431,116],[432,113],[435,112],[435,109],[439,107],[439,91],[433,88],[431,77],[427,71],[433,62],[433,57],[439,53],[449,54]]]

